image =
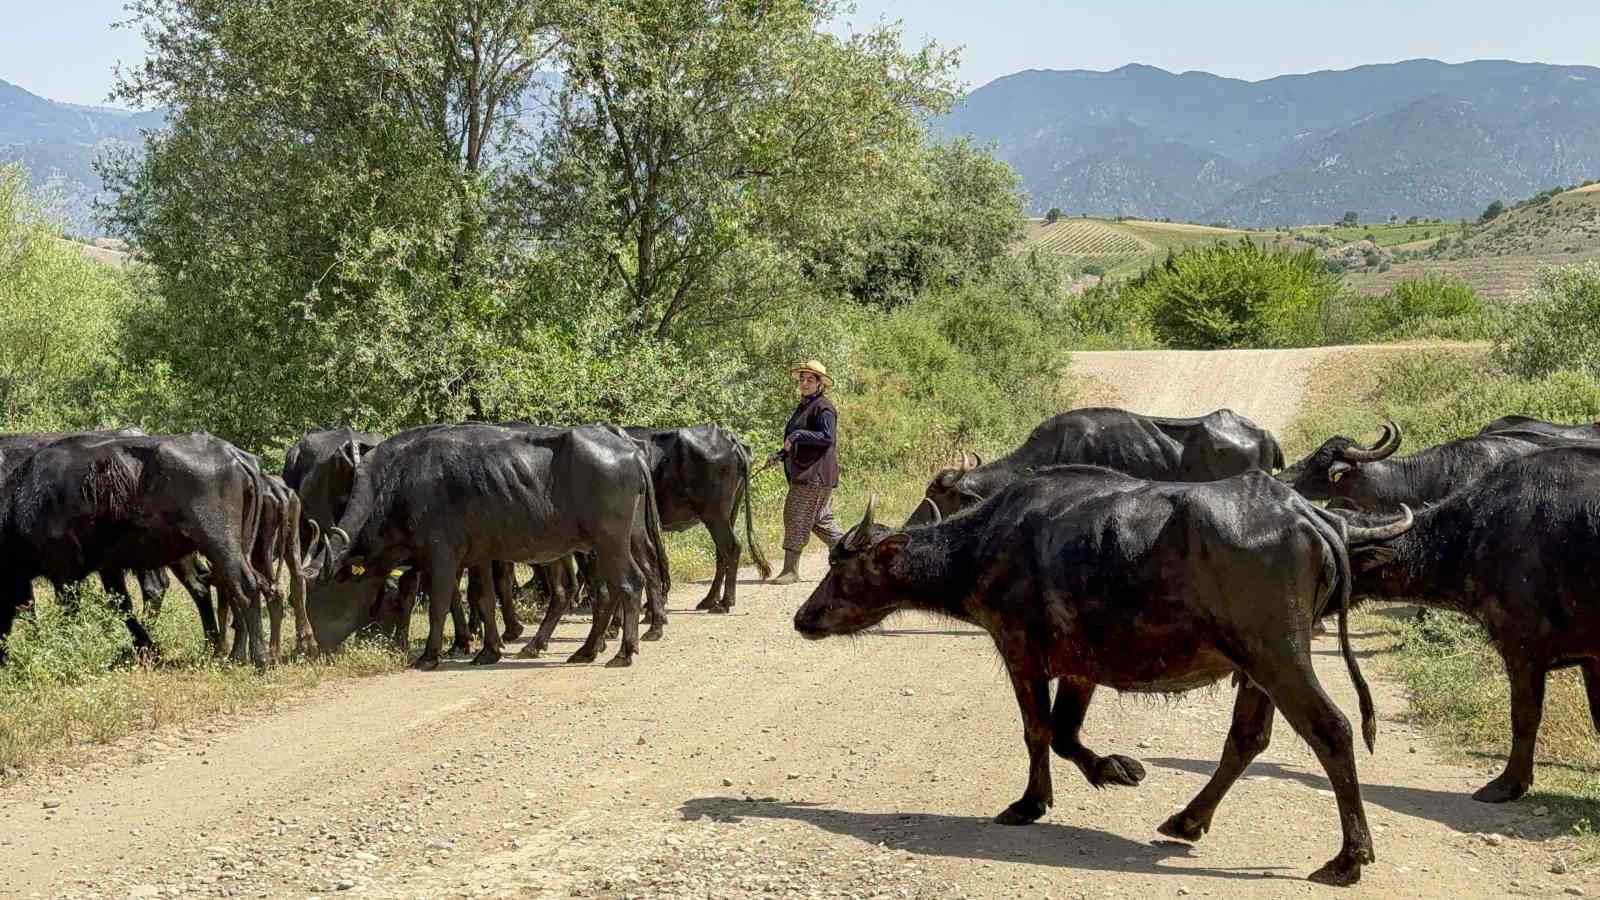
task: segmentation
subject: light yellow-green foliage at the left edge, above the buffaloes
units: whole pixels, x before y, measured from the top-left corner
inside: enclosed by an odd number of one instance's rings
[[[0,431],[91,424],[94,365],[128,279],[61,240],[26,186],[21,167],[0,167]]]

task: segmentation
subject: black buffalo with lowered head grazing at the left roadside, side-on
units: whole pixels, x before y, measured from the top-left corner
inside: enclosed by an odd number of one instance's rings
[[[438,665],[443,615],[462,569],[482,567],[478,583],[490,586],[494,560],[542,564],[589,552],[602,594],[624,607],[622,649],[608,665],[629,665],[638,652],[638,593],[648,578],[670,580],[650,466],[634,440],[614,426],[472,423],[413,431],[378,445],[357,469],[344,516],[323,533],[307,573],[330,581],[357,567],[421,569],[429,636],[416,665],[430,669]],[[650,557],[635,562],[638,528]],[[493,621],[493,609],[482,605],[490,602],[486,589],[472,602]],[[318,612],[336,620],[365,613],[314,607],[314,623]],[[603,645],[598,610],[595,623],[573,661],[594,660]],[[499,634],[485,628],[474,661],[499,657]]]

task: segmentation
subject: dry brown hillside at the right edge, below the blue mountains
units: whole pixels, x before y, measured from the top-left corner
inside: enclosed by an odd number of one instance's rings
[[[1400,279],[1448,272],[1478,293],[1518,299],[1538,280],[1541,266],[1600,259],[1600,184],[1546,195],[1507,210],[1499,218],[1469,226],[1459,240],[1400,245],[1414,258],[1386,272],[1350,272],[1346,283],[1362,293],[1382,293]]]

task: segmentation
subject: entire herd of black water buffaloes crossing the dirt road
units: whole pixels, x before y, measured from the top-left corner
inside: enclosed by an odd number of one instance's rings
[[[1282,713],[1326,772],[1344,836],[1312,879],[1352,884],[1374,850],[1354,732],[1312,666],[1323,617],[1338,617],[1368,749],[1376,713],[1349,644],[1350,604],[1403,599],[1483,626],[1510,681],[1514,738],[1480,801],[1531,786],[1549,671],[1582,671],[1600,729],[1600,423],[1506,416],[1418,453],[1397,455],[1400,444],[1387,423],[1370,445],[1334,436],[1286,466],[1277,439],[1230,410],[1061,413],[1005,456],[938,472],[898,528],[869,501],[794,628],[822,639],[925,610],[987,631],[1029,754],[1027,786],[997,817],[1003,825],[1035,822],[1053,804],[1051,751],[1096,788],[1142,781],[1138,761],[1080,741],[1099,685],[1181,693],[1230,677],[1221,762],[1160,831],[1200,839]],[[741,508],[744,544],[770,575],[750,477],[750,448],[717,424],[464,423],[387,437],[341,428],[294,444],[282,477],[203,432],[0,434],[0,665],[35,580],[72,602],[90,575],[146,657],[155,647],[128,575],[146,618],[176,578],[216,652],[240,663],[248,653],[258,668],[282,658],[285,601],[298,649],[314,655],[358,631],[408,647],[419,597],[429,629],[418,668],[446,652],[446,615],[451,650],[482,633],[472,661],[488,665],[523,631],[512,597],[525,564],[549,604],[523,653],[547,649],[560,615],[587,594],[594,618],[571,661],[598,658],[616,626],[608,665],[626,666],[640,641],[662,636],[664,532],[710,533],[715,575],[701,610],[736,602]]]

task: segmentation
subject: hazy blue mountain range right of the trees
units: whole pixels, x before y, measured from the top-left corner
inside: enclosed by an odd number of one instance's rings
[[[933,122],[1029,208],[1235,226],[1475,218],[1600,178],[1600,69],[1413,59],[1261,82],[1123,66],[997,78]]]

